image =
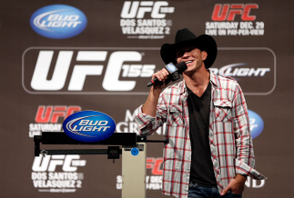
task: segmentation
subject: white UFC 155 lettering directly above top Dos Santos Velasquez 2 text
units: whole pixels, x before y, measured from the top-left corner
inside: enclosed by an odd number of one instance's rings
[[[162,13],[173,13],[174,7],[162,7],[167,6],[166,1],[126,1],[123,10],[121,12],[122,18],[143,18],[146,13],[151,13],[151,18],[164,18],[165,14]]]

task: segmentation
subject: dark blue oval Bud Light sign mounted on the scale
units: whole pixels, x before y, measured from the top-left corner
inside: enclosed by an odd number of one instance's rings
[[[107,114],[94,111],[69,115],[63,123],[65,133],[81,142],[93,143],[105,140],[114,134],[115,121]]]

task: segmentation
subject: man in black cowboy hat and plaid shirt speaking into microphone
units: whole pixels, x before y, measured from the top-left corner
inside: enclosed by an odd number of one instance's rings
[[[209,35],[178,30],[173,45],[162,45],[163,61],[185,62],[184,80],[167,87],[168,72],[152,75],[160,84],[137,108],[141,134],[166,123],[163,193],[176,197],[241,197],[247,176],[265,179],[255,168],[248,109],[233,79],[213,74],[218,48]]]

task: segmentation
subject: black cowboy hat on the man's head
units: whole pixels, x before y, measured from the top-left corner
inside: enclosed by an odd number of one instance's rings
[[[195,46],[201,51],[206,51],[208,53],[208,57],[203,62],[207,69],[215,62],[217,58],[218,47],[212,36],[196,36],[187,28],[185,28],[182,30],[177,30],[175,44],[164,44],[161,46],[160,55],[163,62],[165,62],[165,64],[169,64],[170,62],[177,64],[177,49],[183,46]]]

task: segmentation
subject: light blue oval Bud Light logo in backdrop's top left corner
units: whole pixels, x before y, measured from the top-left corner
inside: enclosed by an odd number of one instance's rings
[[[35,11],[30,25],[37,34],[47,38],[70,38],[86,28],[86,15],[70,5],[47,5]]]

